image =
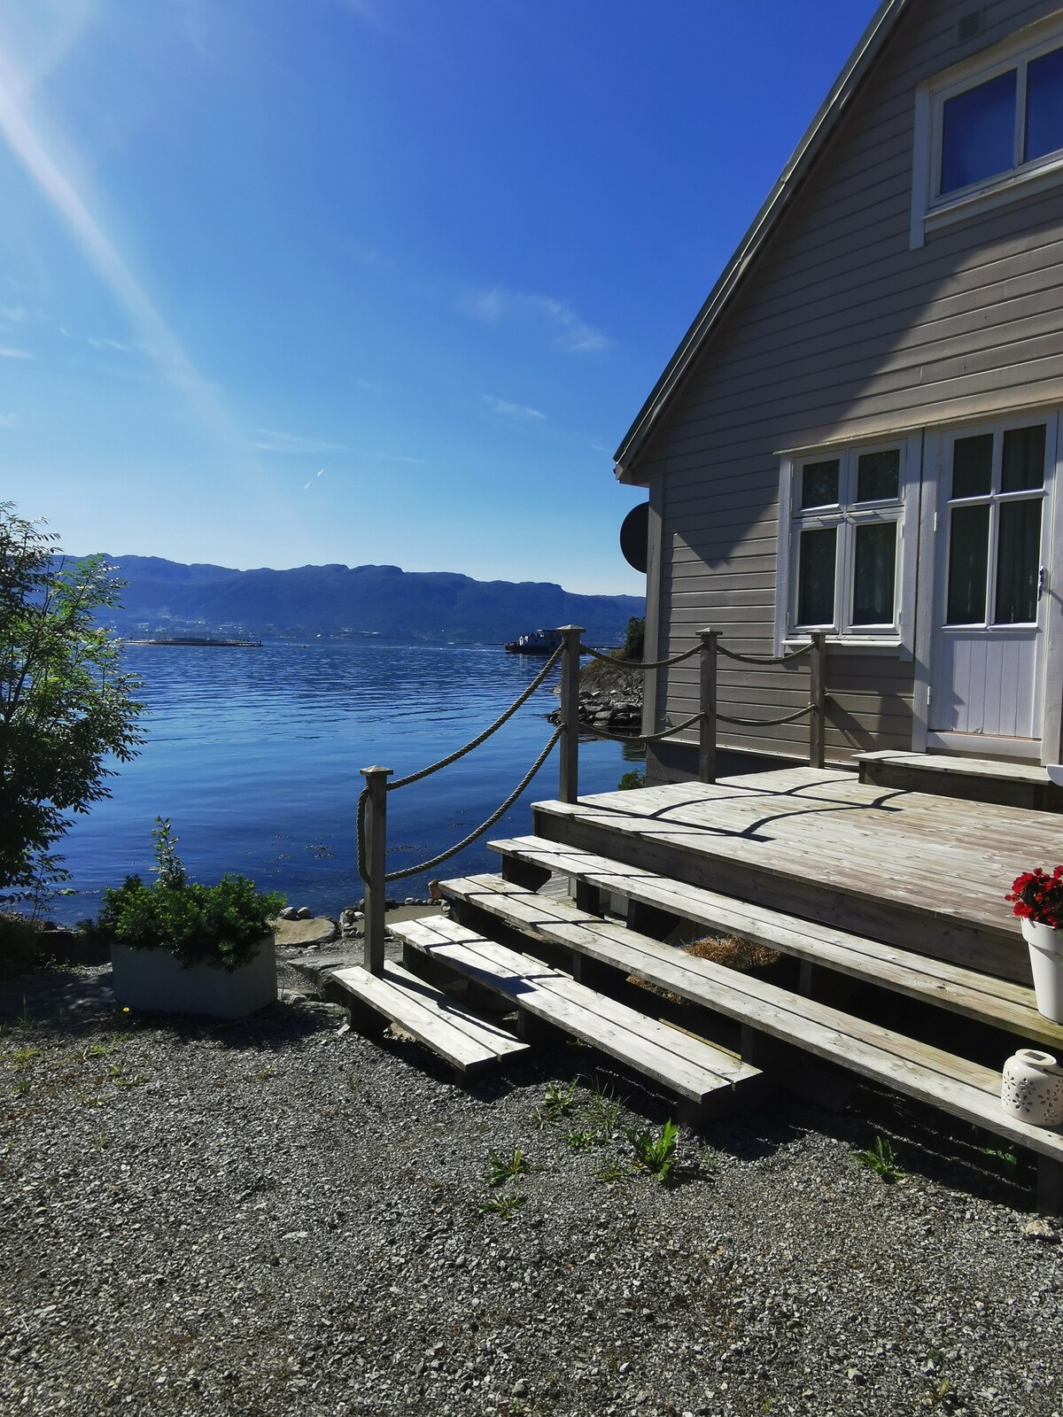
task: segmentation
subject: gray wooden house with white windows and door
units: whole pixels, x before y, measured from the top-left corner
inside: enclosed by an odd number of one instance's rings
[[[1062,252],[1063,9],[886,0],[615,455],[649,489],[646,657],[825,631],[828,761],[1056,762]],[[720,713],[806,680],[723,663]],[[648,676],[646,731],[696,710],[696,659]],[[649,781],[696,775],[685,737]]]

